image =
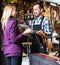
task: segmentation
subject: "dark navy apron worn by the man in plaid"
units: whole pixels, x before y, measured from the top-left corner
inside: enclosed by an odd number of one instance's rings
[[[41,24],[43,21],[44,17],[42,17],[42,20],[40,22],[40,24],[38,25],[34,25],[33,24],[33,30],[42,30],[41,28]],[[36,36],[39,38],[39,41],[42,43],[42,45],[40,46],[40,43],[38,42]],[[43,38],[40,35],[37,35],[35,33],[32,34],[32,45],[31,45],[31,53],[47,53],[46,52],[46,44],[45,42],[43,42]]]

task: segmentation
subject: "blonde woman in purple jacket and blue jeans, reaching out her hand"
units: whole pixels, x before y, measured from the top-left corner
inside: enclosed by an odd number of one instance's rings
[[[24,35],[32,32],[27,29],[22,34],[19,33],[17,22],[14,20],[16,17],[16,7],[13,4],[5,6],[1,18],[2,31],[3,31],[3,47],[4,55],[6,57],[7,65],[21,65],[22,61],[22,45],[21,41]]]

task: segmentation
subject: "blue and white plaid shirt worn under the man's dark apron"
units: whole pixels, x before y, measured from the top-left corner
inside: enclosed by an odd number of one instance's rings
[[[37,19],[34,19],[31,23],[30,26],[33,29],[33,25],[39,25],[41,23],[42,20],[42,16],[40,16]],[[51,35],[52,34],[52,25],[51,25],[51,21],[48,20],[47,18],[44,17],[42,24],[41,24],[41,28],[42,31],[47,34],[47,35]]]

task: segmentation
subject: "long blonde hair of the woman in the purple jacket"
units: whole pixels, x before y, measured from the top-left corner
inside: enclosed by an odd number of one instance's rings
[[[4,27],[6,26],[8,19],[10,18],[10,16],[12,16],[12,12],[14,9],[16,9],[14,4],[8,4],[5,6],[3,14],[2,14],[2,18],[1,18],[2,29],[4,29]]]

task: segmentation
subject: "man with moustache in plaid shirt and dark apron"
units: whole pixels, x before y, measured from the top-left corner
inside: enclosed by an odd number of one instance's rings
[[[38,34],[39,40],[42,40],[42,37],[39,36],[40,33],[44,32],[47,36],[51,36],[52,34],[52,26],[51,21],[45,18],[42,13],[44,11],[43,5],[41,3],[34,3],[33,5],[33,15],[35,19],[31,22],[31,28],[33,30],[38,30],[36,34]],[[44,43],[44,42],[42,42]],[[46,51],[46,44],[43,44],[45,47],[41,50],[39,41],[37,41],[37,37],[33,34],[33,41],[31,45],[31,53],[47,53]]]

